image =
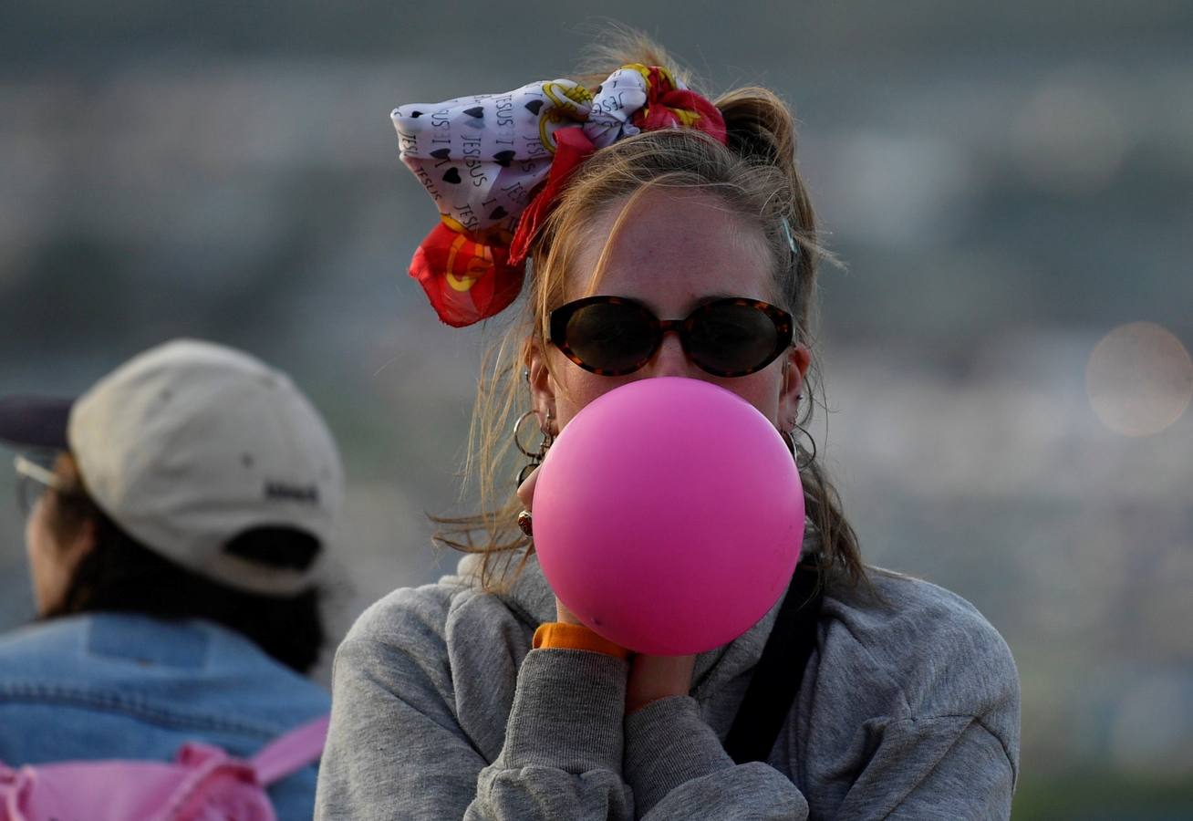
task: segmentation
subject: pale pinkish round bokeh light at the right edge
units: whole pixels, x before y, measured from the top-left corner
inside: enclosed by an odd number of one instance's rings
[[[1094,413],[1115,433],[1160,433],[1193,399],[1193,359],[1176,337],[1154,322],[1123,325],[1089,354],[1086,390]]]

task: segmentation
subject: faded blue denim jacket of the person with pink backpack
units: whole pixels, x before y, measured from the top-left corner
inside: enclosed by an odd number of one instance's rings
[[[330,709],[327,692],[205,621],[86,613],[0,636],[0,761],[172,760],[186,741],[248,757]],[[310,819],[316,767],[270,789]]]

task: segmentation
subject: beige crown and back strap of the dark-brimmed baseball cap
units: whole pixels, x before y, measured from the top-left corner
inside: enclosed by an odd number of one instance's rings
[[[155,553],[229,587],[290,595],[303,570],[227,553],[255,527],[326,548],[344,499],[327,425],[290,378],[229,347],[181,339],[75,400],[66,440],[95,504]]]

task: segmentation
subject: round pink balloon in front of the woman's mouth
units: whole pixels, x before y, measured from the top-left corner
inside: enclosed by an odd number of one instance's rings
[[[548,451],[534,548],[581,622],[638,653],[701,653],[785,589],[804,494],[774,425],[699,379],[638,379],[588,403]]]

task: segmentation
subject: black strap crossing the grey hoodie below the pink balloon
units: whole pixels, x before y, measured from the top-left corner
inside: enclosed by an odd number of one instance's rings
[[[809,560],[796,567],[746,698],[725,737],[725,752],[737,764],[771,758],[774,741],[799,692],[808,656],[816,646],[816,621],[823,592],[816,557]]]

